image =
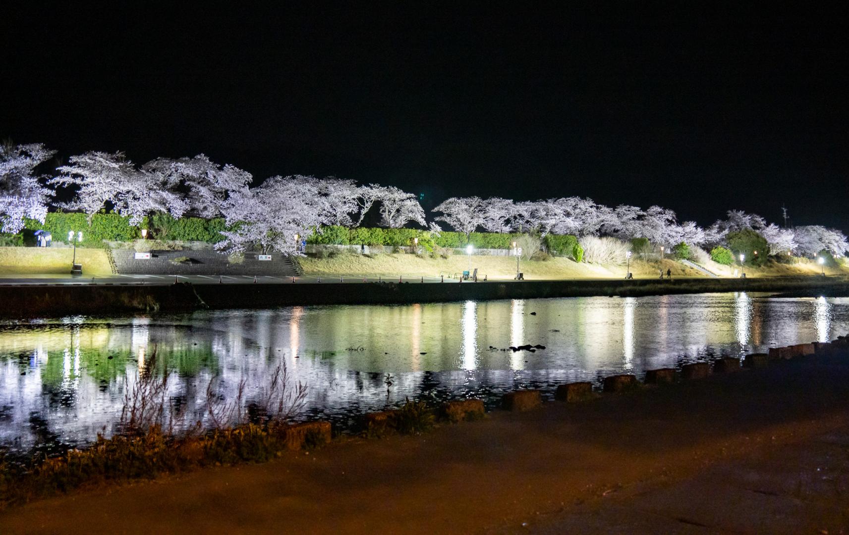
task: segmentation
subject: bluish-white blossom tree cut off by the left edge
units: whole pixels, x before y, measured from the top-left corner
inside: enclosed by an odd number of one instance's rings
[[[42,143],[0,147],[0,231],[20,232],[25,217],[44,222],[53,193],[38,181],[35,169],[54,153]]]

